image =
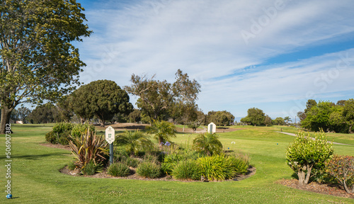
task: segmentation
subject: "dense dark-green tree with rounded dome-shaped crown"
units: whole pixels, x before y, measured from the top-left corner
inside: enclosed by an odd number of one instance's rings
[[[83,96],[84,100],[80,100]],[[73,107],[76,114],[80,115],[84,108],[87,113],[96,115],[101,120],[101,127],[105,126],[105,120],[112,119],[115,114],[129,115],[133,111],[127,92],[110,80],[92,81],[90,84],[81,86],[74,91],[72,101],[75,104]]]

